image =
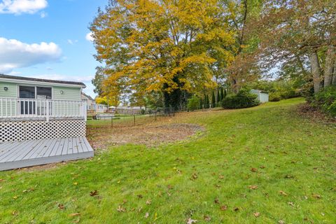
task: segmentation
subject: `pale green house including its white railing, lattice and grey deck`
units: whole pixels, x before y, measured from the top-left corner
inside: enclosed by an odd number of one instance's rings
[[[0,170],[92,157],[83,88],[0,74]]]

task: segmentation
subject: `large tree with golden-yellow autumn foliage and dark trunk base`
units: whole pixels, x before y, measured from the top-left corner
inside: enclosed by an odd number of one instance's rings
[[[216,0],[110,1],[90,26],[102,83],[124,95],[162,92],[165,106],[181,109],[191,93],[216,87],[216,62],[232,61],[226,27]]]

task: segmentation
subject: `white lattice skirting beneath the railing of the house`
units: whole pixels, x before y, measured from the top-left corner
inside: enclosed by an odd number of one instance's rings
[[[85,120],[0,122],[0,142],[85,137]]]

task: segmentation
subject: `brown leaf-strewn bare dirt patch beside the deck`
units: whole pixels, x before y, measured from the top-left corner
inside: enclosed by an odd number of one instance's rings
[[[89,127],[87,139],[94,149],[123,144],[158,146],[181,141],[202,132],[203,127],[193,124],[139,125],[134,127]]]

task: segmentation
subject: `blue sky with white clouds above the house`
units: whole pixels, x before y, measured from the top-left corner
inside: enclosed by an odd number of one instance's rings
[[[95,96],[90,22],[108,0],[0,0],[0,73],[81,81]]]

